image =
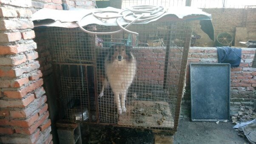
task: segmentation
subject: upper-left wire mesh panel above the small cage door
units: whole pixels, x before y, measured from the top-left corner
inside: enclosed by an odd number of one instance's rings
[[[52,27],[48,28],[48,35],[55,63],[91,64],[94,61],[93,36],[80,28]]]

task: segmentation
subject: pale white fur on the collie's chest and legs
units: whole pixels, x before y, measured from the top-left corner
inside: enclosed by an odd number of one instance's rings
[[[131,86],[131,83],[133,82],[136,74],[136,58],[131,52],[130,54],[131,61],[127,61],[123,58],[122,61],[118,61],[117,58],[115,58],[114,61],[110,63],[105,61],[106,76],[112,91],[114,92],[115,103],[117,105],[117,113],[119,115],[122,114],[122,112],[126,112],[125,100],[127,90]],[[100,97],[103,96],[106,83],[106,81],[103,82]]]

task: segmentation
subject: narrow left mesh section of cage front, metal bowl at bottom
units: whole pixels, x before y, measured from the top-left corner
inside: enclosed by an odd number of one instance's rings
[[[97,121],[94,94],[95,41],[79,28],[48,28],[61,118]]]

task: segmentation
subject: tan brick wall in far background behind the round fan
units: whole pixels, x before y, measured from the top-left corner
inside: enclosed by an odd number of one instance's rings
[[[226,8],[224,11],[222,8],[205,8],[203,11],[212,15],[215,39],[220,33],[230,33],[233,45],[239,47],[245,45],[238,42],[256,39],[256,8]],[[194,22],[193,32],[202,36],[196,40],[195,46],[214,46],[214,42],[200,29],[199,21]]]

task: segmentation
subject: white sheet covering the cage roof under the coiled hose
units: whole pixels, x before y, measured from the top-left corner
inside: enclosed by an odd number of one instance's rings
[[[104,11],[122,11],[122,9],[107,7],[107,8],[99,8]],[[62,10],[54,10],[43,8],[37,11],[32,15],[32,21],[34,21],[34,26],[56,26],[56,27],[64,27],[64,28],[76,28],[78,27],[77,21],[79,21],[83,16],[95,11],[96,9],[77,9],[72,11],[62,11]],[[102,15],[113,16],[115,13],[103,13]],[[171,20],[205,20],[211,19],[211,15],[203,12],[199,8],[191,8],[191,7],[169,7],[166,8],[166,13],[162,16],[152,19],[148,22],[153,21],[171,21]],[[41,22],[40,22],[41,21]],[[129,22],[126,22],[124,19],[119,18],[119,23],[121,25],[127,25]],[[88,15],[81,21],[81,25],[90,25],[90,24],[98,24],[105,26],[117,26],[116,19],[108,19],[107,21],[102,21],[94,17],[93,15]],[[140,23],[141,24],[141,23]]]

